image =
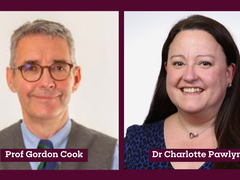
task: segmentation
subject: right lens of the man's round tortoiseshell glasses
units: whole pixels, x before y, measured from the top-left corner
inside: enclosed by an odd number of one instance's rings
[[[54,63],[50,67],[52,77],[56,80],[65,80],[70,73],[71,67],[66,63]]]

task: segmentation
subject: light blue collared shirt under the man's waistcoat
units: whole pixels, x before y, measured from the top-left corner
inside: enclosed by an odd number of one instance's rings
[[[68,136],[71,131],[72,121],[69,119],[62,129],[60,129],[56,134],[54,134],[49,140],[53,143],[54,149],[65,149],[68,141]],[[41,140],[39,137],[35,136],[27,128],[24,121],[21,123],[21,130],[23,135],[23,141],[26,149],[37,149],[38,143]],[[113,155],[112,169],[119,169],[118,162],[118,143],[115,146],[115,151]],[[38,168],[40,162],[30,162],[30,166],[33,170]]]

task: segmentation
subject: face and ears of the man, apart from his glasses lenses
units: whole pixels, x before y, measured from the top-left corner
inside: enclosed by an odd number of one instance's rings
[[[62,38],[45,35],[30,35],[19,41],[15,66],[19,67],[29,61],[41,66],[50,66],[55,61],[72,64],[67,42]],[[44,68],[38,81],[28,82],[23,79],[19,69],[7,68],[8,85],[18,94],[23,117],[47,120],[68,116],[71,94],[80,82],[80,67],[75,71],[73,69],[64,81],[52,79],[48,69]]]

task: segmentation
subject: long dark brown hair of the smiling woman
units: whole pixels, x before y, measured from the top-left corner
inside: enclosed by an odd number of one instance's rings
[[[168,59],[169,46],[175,36],[183,30],[203,30],[211,34],[222,46],[226,63],[236,64],[232,87],[227,92],[215,121],[215,135],[219,149],[240,149],[240,67],[239,51],[228,30],[219,22],[202,16],[193,15],[179,21],[169,32],[162,48],[162,66],[151,102],[149,113],[144,124],[166,119],[177,112],[166,91],[167,72],[164,63]],[[215,162],[213,169],[239,169],[240,162]]]

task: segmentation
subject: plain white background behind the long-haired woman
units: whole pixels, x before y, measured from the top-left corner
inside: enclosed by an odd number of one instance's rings
[[[124,134],[129,126],[143,124],[148,114],[169,31],[179,20],[193,14],[223,24],[240,48],[240,12],[124,13]]]

